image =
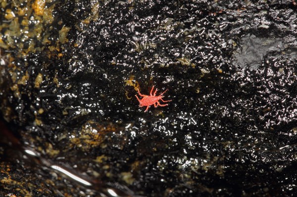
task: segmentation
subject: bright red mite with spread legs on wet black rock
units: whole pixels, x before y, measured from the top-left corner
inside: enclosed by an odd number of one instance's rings
[[[141,93],[139,92],[139,89],[138,89],[138,94],[139,94],[140,96],[143,97],[142,99],[139,99],[138,96],[135,95],[136,98],[137,98],[137,100],[139,101],[139,107],[148,106],[145,112],[148,111],[148,108],[149,108],[149,106],[151,106],[151,105],[153,105],[155,108],[156,108],[157,106],[161,106],[161,107],[163,107],[163,106],[168,105],[168,104],[163,104],[163,105],[160,104],[160,103],[159,103],[159,100],[161,100],[161,101],[163,101],[163,102],[170,102],[170,101],[171,101],[171,100],[169,100],[169,101],[164,101],[164,100],[162,99],[162,98],[164,97],[164,96],[162,96],[162,95],[167,91],[167,89],[166,89],[162,94],[160,94],[159,96],[156,96],[157,88],[156,88],[156,90],[154,91],[154,93],[152,94],[153,87],[154,87],[154,86],[152,86],[152,88],[151,88],[151,90],[150,90],[150,95],[144,95],[144,94],[141,94]]]

